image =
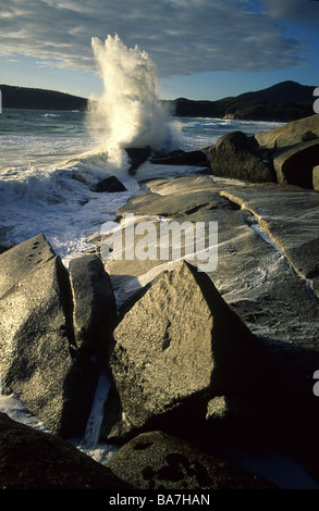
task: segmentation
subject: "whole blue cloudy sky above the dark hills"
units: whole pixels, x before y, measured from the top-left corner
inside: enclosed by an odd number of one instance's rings
[[[0,0],[0,83],[102,91],[91,37],[156,64],[163,99],[319,86],[318,0]]]

